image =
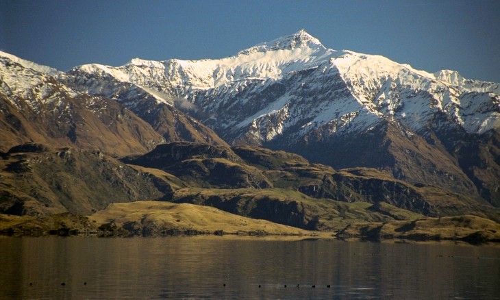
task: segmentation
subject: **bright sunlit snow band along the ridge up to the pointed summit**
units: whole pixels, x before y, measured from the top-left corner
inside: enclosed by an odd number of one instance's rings
[[[326,49],[318,40],[301,31],[221,60],[173,59],[157,62],[134,58],[124,66],[86,64],[68,73],[111,76],[118,82],[163,92],[160,98],[169,102],[172,97],[182,97],[190,92],[218,88],[240,80],[279,78],[292,71],[317,66],[340,54]]]

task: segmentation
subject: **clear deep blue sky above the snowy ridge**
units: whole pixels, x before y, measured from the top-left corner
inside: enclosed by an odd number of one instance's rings
[[[0,50],[61,71],[223,58],[302,28],[327,48],[500,82],[499,0],[0,0]]]

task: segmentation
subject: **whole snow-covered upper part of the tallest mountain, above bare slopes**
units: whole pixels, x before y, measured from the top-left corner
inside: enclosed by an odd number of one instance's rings
[[[287,130],[305,134],[325,125],[332,132],[360,131],[384,118],[421,131],[437,112],[466,132],[499,127],[498,84],[327,49],[303,30],[220,60],[134,59],[125,66],[92,64],[69,72],[82,73],[101,77],[88,92],[106,95],[106,77],[112,77],[158,102],[190,103],[184,107],[230,142],[247,135],[260,144]],[[114,91],[107,94],[113,97]]]

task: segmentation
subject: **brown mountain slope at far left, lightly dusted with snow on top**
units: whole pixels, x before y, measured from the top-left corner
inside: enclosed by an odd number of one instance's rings
[[[0,53],[0,151],[23,142],[144,153],[164,138],[123,105],[77,92],[53,68]]]

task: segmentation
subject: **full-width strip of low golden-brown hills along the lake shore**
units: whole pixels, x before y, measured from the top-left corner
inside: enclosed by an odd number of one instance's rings
[[[50,216],[0,214],[0,236],[89,236],[89,237],[174,237],[286,238],[289,240],[330,239],[381,242],[468,242],[472,245],[500,245],[500,224],[478,216],[425,217],[418,220],[353,222],[324,230],[306,230],[271,221],[210,211],[198,205],[173,205],[178,210],[144,210],[96,213],[92,216],[63,213]],[[165,212],[168,213],[165,213]]]

